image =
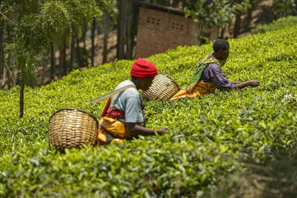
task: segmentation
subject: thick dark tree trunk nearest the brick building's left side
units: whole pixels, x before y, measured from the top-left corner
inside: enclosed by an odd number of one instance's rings
[[[127,0],[120,0],[119,2],[119,22],[118,22],[118,45],[117,58],[125,58],[125,37],[126,37],[126,23],[127,23]]]

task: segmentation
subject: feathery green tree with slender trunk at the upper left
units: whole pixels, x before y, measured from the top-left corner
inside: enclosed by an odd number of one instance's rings
[[[101,2],[109,4],[108,0]],[[12,0],[2,0],[1,5],[10,13],[21,10],[14,23],[12,41],[5,46],[7,50],[16,51],[14,65],[21,79],[21,118],[24,113],[24,88],[30,80],[36,79],[39,53],[47,49],[51,43],[57,47],[61,45],[62,40],[69,43],[72,28],[75,33],[82,33],[83,24],[79,20],[81,17],[92,22],[93,17],[100,18],[102,12],[96,0],[22,0],[21,6]],[[1,18],[4,16],[1,15]]]

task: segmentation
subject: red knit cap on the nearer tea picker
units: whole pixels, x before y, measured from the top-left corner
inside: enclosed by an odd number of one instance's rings
[[[148,60],[138,58],[131,69],[131,76],[135,78],[151,78],[157,75],[157,68]]]

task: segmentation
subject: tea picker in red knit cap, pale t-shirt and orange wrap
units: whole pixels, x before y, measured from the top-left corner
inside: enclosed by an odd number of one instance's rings
[[[144,104],[138,90],[147,91],[157,75],[157,68],[148,60],[139,58],[131,69],[131,80],[121,82],[115,91],[92,100],[96,103],[107,99],[100,120],[98,131],[98,145],[121,143],[124,140],[138,138],[139,135],[151,136],[155,132],[159,135],[168,133],[167,128],[157,130],[147,129]]]

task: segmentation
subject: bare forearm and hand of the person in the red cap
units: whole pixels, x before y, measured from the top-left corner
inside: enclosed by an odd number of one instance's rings
[[[162,135],[164,133],[168,133],[167,129],[168,127],[152,130],[147,129],[145,127],[139,126],[136,123],[126,122],[127,130],[133,137],[141,136],[153,136],[155,135],[155,132],[157,132],[159,135]]]

